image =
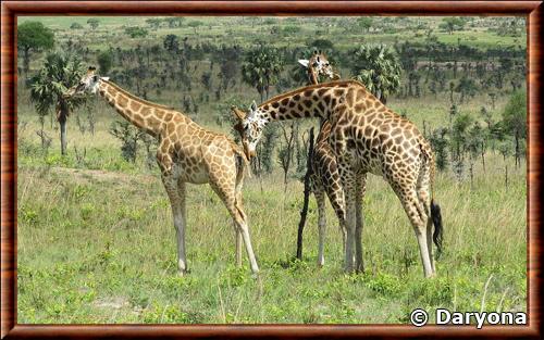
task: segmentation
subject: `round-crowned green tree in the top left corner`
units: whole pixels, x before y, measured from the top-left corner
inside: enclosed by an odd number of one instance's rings
[[[53,32],[40,22],[25,22],[17,26],[17,49],[23,52],[23,70],[28,73],[30,52],[49,50],[54,45]]]

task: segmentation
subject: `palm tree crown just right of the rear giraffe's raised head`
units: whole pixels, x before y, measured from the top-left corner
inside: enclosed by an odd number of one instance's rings
[[[385,45],[363,45],[354,53],[354,74],[384,104],[400,86],[400,63]]]

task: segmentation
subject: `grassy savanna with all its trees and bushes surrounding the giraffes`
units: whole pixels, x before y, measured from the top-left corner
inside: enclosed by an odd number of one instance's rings
[[[527,308],[526,22],[520,17],[20,17],[18,323],[408,323],[416,307]],[[247,108],[306,84],[323,50],[412,121],[436,154],[444,252],[424,279],[391,188],[370,177],[366,272],[343,273],[327,210],[317,267],[310,200],[293,260],[308,130],[272,124],[244,199],[261,274],[234,265],[234,229],[207,186],[189,186],[187,259],[156,142],[97,98],[63,98],[88,65],[149,101],[230,134]]]

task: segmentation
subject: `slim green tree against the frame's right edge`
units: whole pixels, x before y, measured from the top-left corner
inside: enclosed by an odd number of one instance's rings
[[[505,133],[514,137],[516,166],[520,166],[520,141],[527,139],[527,92],[516,91],[511,95],[503,111]]]

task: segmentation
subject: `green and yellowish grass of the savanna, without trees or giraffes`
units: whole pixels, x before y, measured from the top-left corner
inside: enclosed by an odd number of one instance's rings
[[[21,17],[20,22],[28,20]],[[40,17],[60,39],[83,36],[69,29],[88,17]],[[101,17],[87,39],[102,49],[98,35],[120,35],[123,26],[146,17]],[[190,21],[188,18],[187,21]],[[247,18],[198,18],[199,35],[183,27],[176,34],[191,39],[221,40],[228,23],[243,23],[230,41],[244,40],[252,32]],[[289,20],[289,18],[283,18]],[[224,21],[224,23],[222,23]],[[440,18],[430,18],[435,27]],[[211,28],[209,27],[211,26]],[[313,27],[305,26],[300,41],[311,39]],[[239,28],[239,29],[238,29]],[[350,34],[338,35],[337,46],[347,47]],[[257,30],[264,35],[269,28]],[[143,41],[123,40],[123,47],[157,42],[169,33],[162,27]],[[404,37],[406,39],[411,39]],[[511,37],[487,30],[437,34],[442,41],[457,43],[458,35],[472,46],[515,45]],[[475,39],[470,39],[473,36]],[[104,36],[101,36],[102,38]],[[394,41],[395,35],[383,35]],[[369,35],[378,41],[380,35]],[[424,39],[418,37],[417,39]],[[519,39],[524,39],[519,38]],[[160,39],[162,41],[162,39]],[[524,40],[521,40],[522,42]],[[161,42],[162,43],[162,42]],[[251,41],[245,41],[251,43]],[[285,42],[284,42],[285,43]],[[524,43],[524,42],[523,42]],[[205,63],[202,63],[205,64]],[[199,64],[200,75],[206,65]],[[40,59],[33,60],[37,70]],[[288,72],[288,71],[286,71]],[[424,279],[412,228],[392,189],[380,177],[370,176],[364,198],[363,274],[343,273],[341,232],[327,203],[325,265],[317,265],[317,207],[310,200],[302,261],[294,261],[302,184],[289,177],[286,192],[280,168],[261,178],[246,176],[244,202],[251,240],[261,268],[254,278],[244,253],[244,266],[234,260],[234,228],[226,209],[206,186],[188,186],[187,260],[190,273],[176,274],[175,231],[170,203],[157,166],[146,165],[140,150],[136,163],[121,156],[121,142],[108,133],[122,119],[102,102],[92,108],[95,135],[82,134],[76,117],[69,121],[69,154],[60,155],[59,130],[46,117],[51,148],[40,147],[36,131],[38,115],[22,81],[18,89],[17,152],[17,323],[20,324],[407,324],[415,308],[432,311],[527,311],[527,178],[526,160],[516,168],[512,158],[486,153],[486,172],[474,165],[474,182],[457,180],[450,169],[438,173],[435,200],[442,206],[445,228],[444,253],[437,261],[437,277]],[[198,93],[195,86],[193,95]],[[177,96],[177,97],[175,97]],[[149,93],[150,100],[180,106],[180,93]],[[457,96],[457,95],[456,95]],[[221,102],[200,105],[193,118],[210,129],[228,133],[218,125],[221,105],[231,100],[250,103],[254,88],[239,81]],[[493,115],[499,118],[507,97],[498,97]],[[448,124],[449,98],[391,98],[388,106],[406,112],[421,130]],[[481,106],[490,106],[486,93],[459,105],[460,113],[480,119]],[[181,109],[181,108],[180,108]],[[306,129],[316,122],[305,122]],[[78,160],[75,148],[85,158]],[[274,161],[275,162],[275,161]],[[505,165],[508,186],[505,186]],[[432,314],[432,313],[430,313]]]

